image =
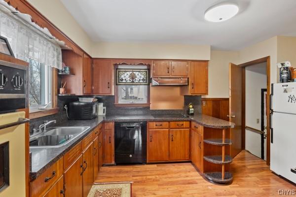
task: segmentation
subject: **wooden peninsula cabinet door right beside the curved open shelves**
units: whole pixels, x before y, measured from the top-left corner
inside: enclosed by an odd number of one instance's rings
[[[202,135],[191,130],[191,162],[202,172],[203,143]]]

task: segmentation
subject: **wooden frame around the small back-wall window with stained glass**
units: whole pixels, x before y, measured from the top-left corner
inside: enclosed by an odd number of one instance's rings
[[[138,64],[128,64],[128,63],[119,63],[119,64],[114,64],[114,70],[116,70],[116,68],[119,68],[119,66],[147,66],[148,69],[150,70],[150,64],[144,64],[144,63],[138,63]],[[151,71],[151,70],[150,70]],[[116,80],[116,72],[114,73],[114,77]],[[149,79],[150,80],[150,79]],[[135,84],[137,85],[137,84]],[[119,99],[118,99],[118,94],[119,94],[119,86],[121,85],[116,85],[116,83],[114,84],[114,96],[115,96],[115,103],[114,106],[115,107],[150,107],[150,84],[147,85],[147,103],[119,103]]]

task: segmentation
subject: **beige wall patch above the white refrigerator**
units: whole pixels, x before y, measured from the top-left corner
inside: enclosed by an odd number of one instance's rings
[[[277,62],[290,61],[296,67],[296,37],[278,36]]]

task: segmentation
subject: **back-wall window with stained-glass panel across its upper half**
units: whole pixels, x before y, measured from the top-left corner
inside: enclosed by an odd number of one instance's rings
[[[115,97],[117,106],[149,106],[148,66],[116,66]]]

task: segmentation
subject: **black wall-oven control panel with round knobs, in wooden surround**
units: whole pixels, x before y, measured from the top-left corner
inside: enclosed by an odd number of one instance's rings
[[[0,113],[27,108],[28,66],[0,60]]]

